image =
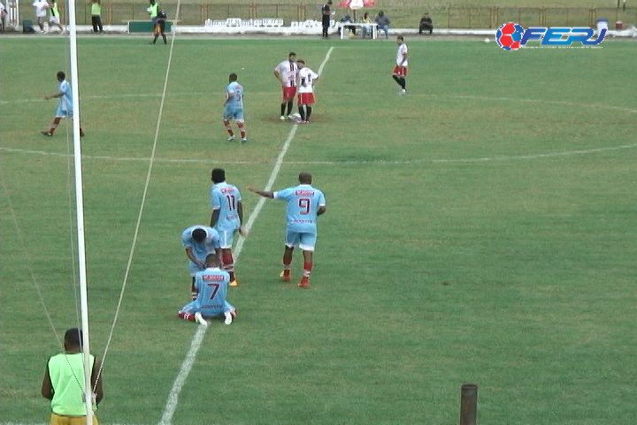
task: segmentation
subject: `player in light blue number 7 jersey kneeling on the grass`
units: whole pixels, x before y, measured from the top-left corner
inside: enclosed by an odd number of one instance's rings
[[[197,298],[181,308],[177,314],[180,319],[208,326],[206,319],[223,317],[226,325],[232,323],[236,317],[236,309],[226,301],[230,274],[221,270],[220,265],[214,254],[206,257],[205,270],[195,275]]]

